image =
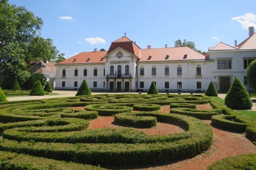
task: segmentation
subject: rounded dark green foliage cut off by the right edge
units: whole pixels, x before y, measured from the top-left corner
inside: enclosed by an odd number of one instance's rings
[[[252,61],[246,70],[246,81],[250,88],[256,91],[256,60]]]

